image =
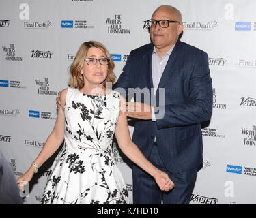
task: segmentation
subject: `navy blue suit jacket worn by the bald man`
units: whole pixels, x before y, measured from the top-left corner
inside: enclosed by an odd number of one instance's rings
[[[154,44],[146,44],[130,52],[114,89],[153,87],[152,52]],[[165,88],[165,104],[159,104],[159,88]],[[150,92],[150,97],[154,95]],[[141,102],[145,102],[142,95]],[[134,96],[138,101],[138,97]],[[148,102],[146,102],[148,104]],[[151,102],[152,103],[152,102]],[[145,157],[150,155],[156,137],[158,151],[166,168],[173,173],[199,166],[202,161],[202,121],[212,114],[212,79],[208,55],[184,42],[177,41],[156,91],[156,106],[165,111],[162,119],[138,120],[132,140]]]

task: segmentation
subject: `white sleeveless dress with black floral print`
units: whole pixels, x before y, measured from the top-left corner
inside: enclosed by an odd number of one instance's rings
[[[120,94],[86,95],[68,88],[64,144],[47,178],[41,204],[130,204],[113,158]]]

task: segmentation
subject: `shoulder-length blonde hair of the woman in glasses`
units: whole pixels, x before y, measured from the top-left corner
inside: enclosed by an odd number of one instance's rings
[[[83,64],[85,63],[85,57],[87,55],[87,52],[89,48],[100,48],[102,52],[104,52],[104,55],[109,59],[109,65],[108,65],[108,74],[106,76],[106,80],[104,81],[104,87],[106,87],[106,82],[115,82],[115,74],[113,72],[113,69],[115,67],[115,63],[111,58],[111,55],[109,54],[109,51],[106,49],[106,47],[101,44],[100,42],[96,41],[89,41],[89,42],[84,42],[81,44],[79,47],[79,50],[76,53],[76,57],[70,66],[70,87],[77,88],[77,89],[82,89],[84,86],[84,80],[83,80],[83,75],[81,74],[81,70],[83,68]]]

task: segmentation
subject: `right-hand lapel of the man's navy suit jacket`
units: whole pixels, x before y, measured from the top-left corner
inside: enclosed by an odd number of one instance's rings
[[[169,60],[167,61],[167,65],[165,66],[165,70],[164,72],[162,72],[162,77],[160,79],[160,82],[158,84],[158,88],[156,90],[156,95],[158,95],[159,93],[159,88],[163,88],[165,86],[165,82],[168,80],[168,78],[171,77],[171,74],[173,73],[177,60],[178,60],[178,56],[180,55],[180,47],[181,42],[177,41],[177,43],[175,44],[175,47],[173,48],[173,51],[171,52],[171,55],[169,57]]]

